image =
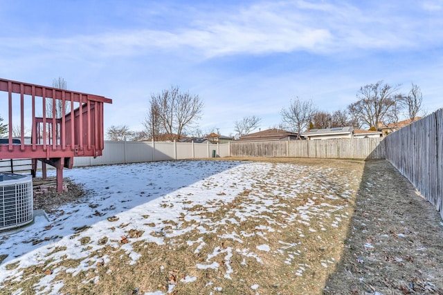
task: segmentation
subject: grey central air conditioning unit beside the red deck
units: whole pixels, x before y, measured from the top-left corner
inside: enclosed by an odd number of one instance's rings
[[[31,175],[0,173],[0,231],[32,222],[33,206]]]

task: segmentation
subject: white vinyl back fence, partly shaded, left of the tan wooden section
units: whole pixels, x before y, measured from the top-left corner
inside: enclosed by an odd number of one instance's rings
[[[101,157],[75,157],[73,166],[126,164],[163,160],[223,158],[229,156],[229,144],[193,142],[105,142]]]

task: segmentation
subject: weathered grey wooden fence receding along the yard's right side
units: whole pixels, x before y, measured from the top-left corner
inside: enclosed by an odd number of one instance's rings
[[[388,135],[386,160],[443,218],[443,109]]]

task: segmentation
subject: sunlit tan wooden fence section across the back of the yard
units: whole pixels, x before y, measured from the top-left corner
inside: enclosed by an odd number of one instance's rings
[[[381,138],[230,143],[231,157],[384,159],[385,155]]]

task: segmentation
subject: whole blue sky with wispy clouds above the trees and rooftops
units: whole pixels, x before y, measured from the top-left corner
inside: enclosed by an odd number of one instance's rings
[[[442,0],[0,0],[0,28],[0,77],[109,97],[105,129],[143,129],[150,95],[172,85],[223,135],[250,115],[278,125],[294,97],[344,109],[379,80],[443,107]]]

